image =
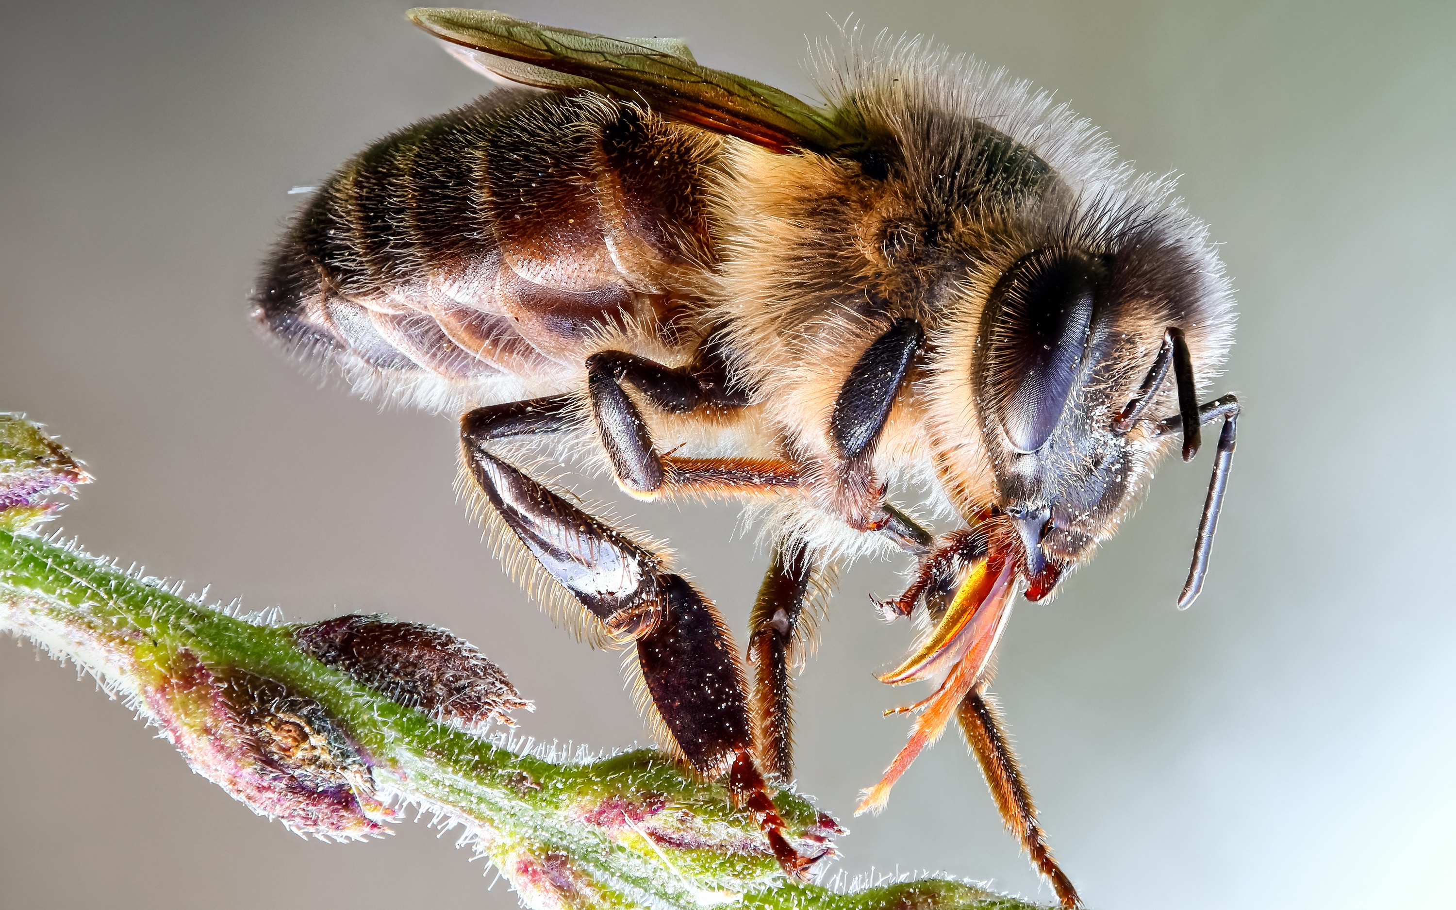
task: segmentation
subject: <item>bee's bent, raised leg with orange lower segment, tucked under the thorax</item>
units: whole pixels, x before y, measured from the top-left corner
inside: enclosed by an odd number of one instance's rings
[[[628,492],[642,498],[741,495],[798,483],[798,472],[782,460],[660,456],[652,448],[652,434],[642,412],[626,393],[625,384],[629,383],[652,405],[676,414],[700,405],[729,406],[725,400],[732,406],[741,403],[719,395],[724,389],[732,392],[725,383],[702,383],[687,370],[670,370],[622,351],[600,351],[588,357],[591,415],[612,470]]]

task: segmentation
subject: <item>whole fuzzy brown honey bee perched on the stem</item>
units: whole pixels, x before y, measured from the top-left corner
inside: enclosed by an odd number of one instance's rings
[[[1077,906],[987,695],[1013,598],[1050,596],[1153,466],[1223,421],[1179,598],[1203,584],[1238,400],[1206,227],[1045,95],[916,41],[821,61],[824,106],[613,39],[489,12],[415,25],[510,83],[323,183],[253,297],[268,333],[363,393],[463,414],[464,476],[546,601],[636,651],[664,744],[804,877],[767,779],[792,776],[791,677],[836,566],[916,559],[879,603],[925,633],[887,683],[941,678],[860,811],[954,718],[1008,828]],[[1169,376],[1171,374],[1171,376]],[[534,448],[531,448],[534,446]],[[523,454],[534,451],[534,454]],[[744,499],[772,542],[748,673],[660,545],[553,489]],[[890,501],[954,518],[932,536]],[[818,850],[818,852],[815,852]]]

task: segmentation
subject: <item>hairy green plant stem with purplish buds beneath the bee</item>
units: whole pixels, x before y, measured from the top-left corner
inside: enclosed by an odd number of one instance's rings
[[[530,907],[1031,906],[955,879],[788,882],[725,789],[657,751],[556,757],[486,735],[488,721],[508,724],[527,703],[448,632],[232,616],[33,536],[38,498],[89,478],[58,447],[7,450],[15,421],[0,415],[0,517],[31,511],[0,521],[0,629],[93,673],[194,769],[293,830],[370,837],[422,805],[463,826]],[[802,846],[842,833],[801,796],[775,801]]]

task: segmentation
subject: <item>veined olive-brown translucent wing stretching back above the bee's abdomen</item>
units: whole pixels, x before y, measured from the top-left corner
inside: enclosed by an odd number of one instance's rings
[[[699,66],[677,41],[606,38],[502,13],[412,9],[467,66],[543,89],[639,98],[668,116],[775,151],[833,151],[853,137],[824,112],[743,76]]]

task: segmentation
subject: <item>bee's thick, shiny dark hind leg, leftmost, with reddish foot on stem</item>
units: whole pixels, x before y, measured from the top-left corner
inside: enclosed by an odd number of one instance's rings
[[[472,478],[540,566],[603,628],[636,645],[652,705],[683,757],[706,778],[728,775],[734,801],[753,814],[785,872],[804,878],[818,856],[783,836],[753,763],[743,664],[716,607],[645,546],[489,451],[508,435],[575,425],[569,396],[478,408],[460,421]]]

